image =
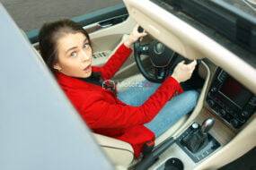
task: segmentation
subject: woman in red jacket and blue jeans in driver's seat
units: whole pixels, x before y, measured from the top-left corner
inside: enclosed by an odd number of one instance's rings
[[[87,125],[93,132],[127,141],[136,157],[146,141],[188,114],[198,98],[196,91],[172,98],[183,92],[180,82],[190,79],[196,61],[178,64],[161,85],[143,81],[145,88],[130,88],[118,95],[110,86],[102,88],[102,81],[114,76],[131,54],[132,44],[144,36],[136,27],[102,67],[92,66],[91,40],[74,21],[45,24],[39,36],[40,54]]]

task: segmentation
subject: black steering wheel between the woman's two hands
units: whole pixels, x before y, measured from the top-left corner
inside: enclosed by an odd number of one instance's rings
[[[142,63],[142,55],[149,56],[154,72],[146,71]],[[174,69],[175,65],[184,60],[183,57],[172,51],[163,43],[153,40],[150,43],[142,44],[140,41],[134,43],[134,57],[138,70],[148,81],[163,82]]]

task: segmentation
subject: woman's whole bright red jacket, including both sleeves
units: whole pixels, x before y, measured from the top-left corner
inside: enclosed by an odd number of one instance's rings
[[[106,64],[93,67],[93,72],[101,72],[103,80],[109,80],[130,53],[131,49],[121,45]],[[146,141],[154,140],[154,133],[144,124],[152,121],[176,91],[182,92],[180,84],[169,77],[143,105],[128,106],[101,86],[62,73],[57,73],[57,81],[93,132],[130,143],[136,157]]]

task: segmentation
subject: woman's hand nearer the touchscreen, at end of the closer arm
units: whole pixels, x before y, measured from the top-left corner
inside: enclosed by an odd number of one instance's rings
[[[177,64],[172,72],[172,78],[178,82],[188,81],[197,65],[197,61],[194,60],[190,64],[184,64],[184,61]]]

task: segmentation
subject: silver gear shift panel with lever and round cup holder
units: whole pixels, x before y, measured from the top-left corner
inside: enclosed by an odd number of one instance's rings
[[[207,118],[202,124],[191,123],[169,147],[172,156],[157,165],[156,170],[193,169],[201,160],[215,152],[221,145],[209,133],[214,123],[214,118]]]

